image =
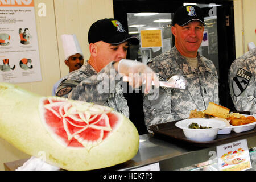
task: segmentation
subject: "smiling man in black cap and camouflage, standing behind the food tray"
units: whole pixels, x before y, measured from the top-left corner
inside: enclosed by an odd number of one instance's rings
[[[176,11],[173,23],[175,46],[150,60],[148,66],[159,74],[159,80],[183,75],[188,87],[186,90],[160,88],[155,100],[145,96],[143,110],[147,127],[188,118],[192,110],[203,111],[209,102],[219,103],[216,67],[197,52],[203,39],[203,13],[197,6],[183,6]]]

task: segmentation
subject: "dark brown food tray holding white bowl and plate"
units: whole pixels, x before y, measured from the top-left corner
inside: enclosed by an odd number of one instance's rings
[[[252,130],[245,131],[242,133],[235,133],[234,131],[231,131],[230,134],[218,134],[216,139],[212,141],[196,142],[187,139],[183,133],[183,130],[175,126],[175,123],[180,120],[152,125],[148,127],[148,129],[153,131],[155,136],[164,137],[164,139],[170,142],[172,140],[177,140],[179,142],[185,142],[197,147],[218,146],[221,144],[234,142],[240,139],[245,139],[256,135],[256,128],[254,128]]]

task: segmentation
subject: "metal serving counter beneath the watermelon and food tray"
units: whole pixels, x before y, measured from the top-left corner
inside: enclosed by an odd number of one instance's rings
[[[245,137],[251,158],[252,169],[255,170],[256,162],[256,135]],[[15,170],[22,166],[28,159],[16,160],[14,162],[4,163],[5,170]],[[154,134],[144,134],[139,136],[139,151],[133,159],[101,170],[132,170],[146,167],[150,164],[159,166],[160,170],[191,170],[199,169],[203,166],[213,166],[217,162],[216,146],[198,147],[179,140],[169,140]],[[202,168],[211,169],[211,168]],[[215,168],[216,169],[216,168]]]

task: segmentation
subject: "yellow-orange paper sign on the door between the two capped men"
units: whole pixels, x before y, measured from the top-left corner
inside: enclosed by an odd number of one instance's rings
[[[141,47],[162,47],[162,30],[141,30]]]

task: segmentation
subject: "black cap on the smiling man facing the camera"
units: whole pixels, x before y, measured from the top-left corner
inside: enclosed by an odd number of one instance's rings
[[[179,7],[179,9],[177,9],[177,11],[174,14],[172,26],[174,26],[177,23],[179,26],[182,27],[193,20],[198,20],[202,22],[205,26],[204,14],[200,7],[195,5],[181,6]]]

